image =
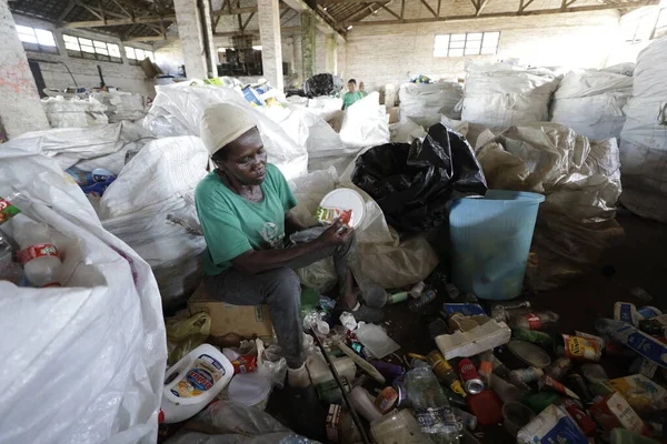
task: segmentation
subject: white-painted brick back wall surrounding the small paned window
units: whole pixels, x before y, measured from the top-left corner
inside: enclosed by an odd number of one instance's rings
[[[406,16],[428,17],[419,2],[408,1]],[[489,7],[494,1],[489,2]],[[487,11],[485,9],[485,11]],[[491,11],[489,9],[489,11]],[[391,20],[381,11],[371,20]],[[464,12],[459,12],[464,13]],[[418,24],[358,26],[348,33],[346,77],[366,82],[368,89],[406,82],[410,73],[456,79],[467,60],[520,59],[536,65],[603,68],[618,44],[617,11],[576,12],[516,18],[476,19]],[[436,34],[500,31],[496,56],[434,58]]]

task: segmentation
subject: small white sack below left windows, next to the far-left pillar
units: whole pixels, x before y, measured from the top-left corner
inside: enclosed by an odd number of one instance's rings
[[[51,128],[86,128],[109,123],[107,107],[89,98],[64,99],[61,95],[42,99],[44,112]]]

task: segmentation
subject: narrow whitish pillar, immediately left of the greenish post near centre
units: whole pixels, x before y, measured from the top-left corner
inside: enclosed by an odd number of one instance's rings
[[[280,40],[278,0],[257,0],[257,12],[259,13],[263,77],[273,88],[282,90],[285,80],[282,78],[282,42]]]

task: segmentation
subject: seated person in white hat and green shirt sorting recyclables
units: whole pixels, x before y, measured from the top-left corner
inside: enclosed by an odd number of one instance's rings
[[[297,205],[267,152],[252,117],[228,103],[203,112],[200,134],[216,165],[195,191],[203,229],[207,291],[233,305],[269,305],[273,329],[288,364],[288,384],[310,384],[301,332],[300,281],[293,270],[332,256],[338,306],[357,321],[379,322],[384,289],[360,272],[352,229],[340,221],[306,228],[290,210]],[[355,282],[364,300],[357,300]]]

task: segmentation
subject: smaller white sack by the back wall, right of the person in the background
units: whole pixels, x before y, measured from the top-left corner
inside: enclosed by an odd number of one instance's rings
[[[400,85],[398,97],[401,121],[410,119],[430,128],[440,122],[440,114],[460,118],[455,108],[464,98],[464,88],[457,82],[405,83]]]

